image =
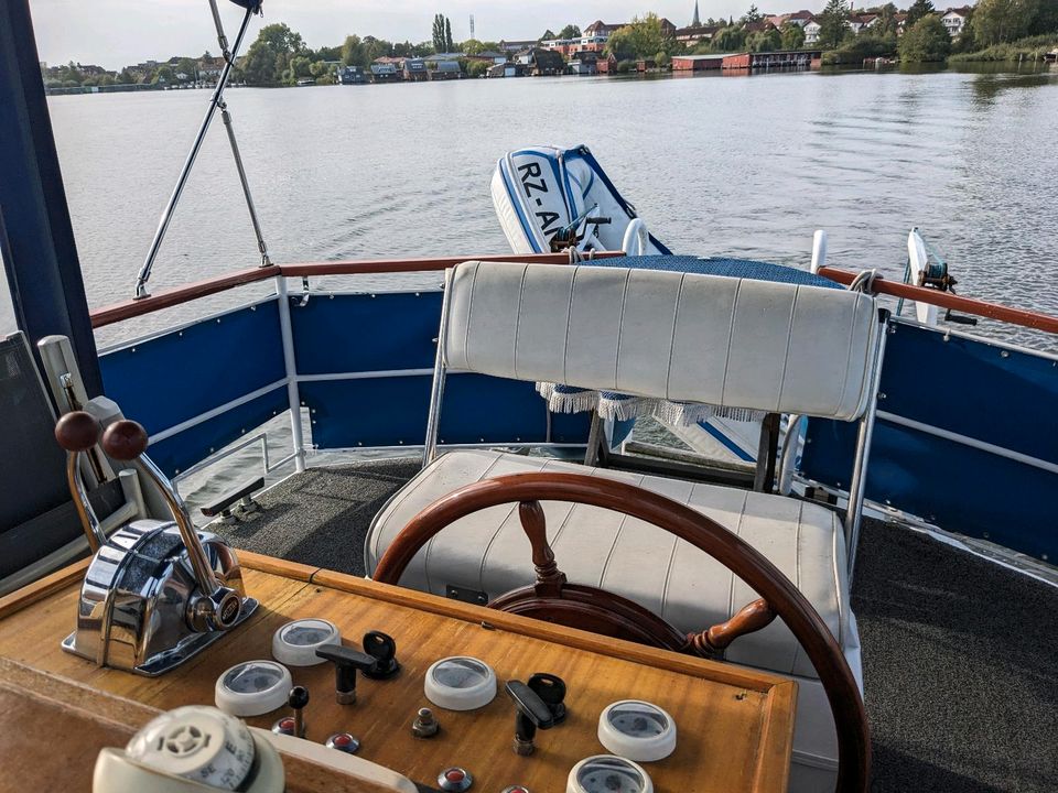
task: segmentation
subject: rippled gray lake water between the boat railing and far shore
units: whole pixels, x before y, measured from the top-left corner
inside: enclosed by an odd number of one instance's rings
[[[208,97],[48,100],[93,306],[130,296]],[[1058,69],[240,88],[228,101],[274,261],[508,252],[488,195],[497,157],[585,143],[677,252],[807,267],[824,228],[832,263],[899,278],[917,225],[961,292],[1058,313]],[[218,118],[151,289],[256,252]]]

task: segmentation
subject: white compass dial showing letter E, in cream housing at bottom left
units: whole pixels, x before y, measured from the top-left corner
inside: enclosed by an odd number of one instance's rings
[[[191,705],[164,713],[126,747],[137,762],[210,787],[235,790],[253,767],[253,738],[246,725],[212,707]]]

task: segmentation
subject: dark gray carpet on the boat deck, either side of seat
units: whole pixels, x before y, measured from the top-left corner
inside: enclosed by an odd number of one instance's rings
[[[237,547],[364,574],[371,517],[418,460],[316,468],[264,493]],[[873,793],[1058,790],[1058,589],[866,521],[860,622]]]

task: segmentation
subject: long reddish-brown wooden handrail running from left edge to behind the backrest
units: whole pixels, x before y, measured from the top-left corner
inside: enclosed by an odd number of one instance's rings
[[[622,251],[600,251],[595,253],[596,259],[612,259],[624,256]],[[566,253],[503,253],[499,256],[465,256],[465,257],[423,257],[409,259],[358,259],[353,261],[336,262],[307,262],[299,264],[272,264],[270,267],[252,268],[250,270],[239,270],[238,272],[218,275],[216,278],[196,281],[194,283],[177,286],[176,289],[159,292],[150,297],[141,300],[128,300],[122,303],[96,308],[91,312],[91,327],[101,328],[107,325],[131,319],[132,317],[143,316],[162,308],[190,303],[191,301],[227,292],[237,286],[266,281],[277,275],[288,278],[312,278],[314,275],[366,275],[396,272],[431,272],[436,270],[446,270],[455,267],[460,262],[481,260],[481,261],[509,261],[509,262],[537,262],[547,264],[564,264],[570,258]]]

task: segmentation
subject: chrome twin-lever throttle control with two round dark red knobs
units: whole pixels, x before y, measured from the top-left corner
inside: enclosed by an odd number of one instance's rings
[[[172,484],[144,454],[147,431],[132,421],[99,424],[74,411],[55,425],[68,454],[71,495],[96,551],[80,591],[77,630],[63,649],[145,675],[180,665],[247,619],[257,600],[246,597],[235,552],[218,536],[199,533]],[[132,520],[102,535],[80,477],[78,457],[100,443],[127,463],[164,500],[172,521]],[[121,630],[112,630],[121,626]]]

